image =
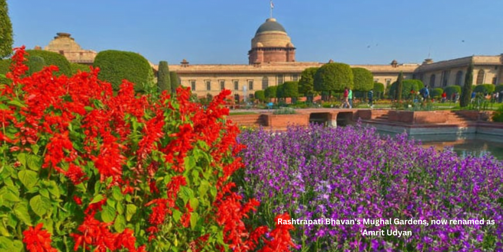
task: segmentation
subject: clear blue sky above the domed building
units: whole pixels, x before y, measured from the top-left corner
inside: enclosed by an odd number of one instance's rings
[[[269,0],[8,0],[15,46],[68,32],[85,49],[157,64],[247,64]],[[275,0],[297,61],[422,62],[503,53],[501,0]],[[464,41],[464,42],[463,42]]]

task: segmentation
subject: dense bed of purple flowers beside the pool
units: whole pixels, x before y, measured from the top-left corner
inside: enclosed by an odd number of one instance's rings
[[[237,184],[262,202],[254,221],[283,211],[294,219],[355,221],[295,225],[300,251],[503,251],[503,164],[493,157],[460,158],[360,127],[245,131],[238,140],[247,148]],[[391,224],[363,224],[390,218]],[[483,225],[449,223],[482,219]]]

